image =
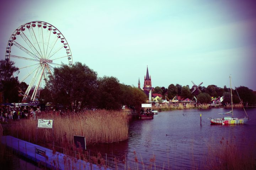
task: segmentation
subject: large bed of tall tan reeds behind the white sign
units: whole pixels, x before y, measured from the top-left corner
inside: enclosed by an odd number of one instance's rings
[[[11,126],[9,134],[30,141],[45,142],[61,145],[65,136],[69,145],[73,145],[74,135],[85,136],[86,145],[95,143],[112,143],[123,141],[128,138],[127,114],[118,111],[85,111],[81,113],[66,113],[56,115],[48,112],[39,115],[38,118],[53,120],[52,130],[37,129],[37,121],[22,120]],[[36,138],[37,137],[37,138]]]

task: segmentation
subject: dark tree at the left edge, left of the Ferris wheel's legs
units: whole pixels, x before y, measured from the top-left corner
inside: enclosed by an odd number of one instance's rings
[[[19,73],[19,69],[14,66],[14,62],[0,60],[0,92],[3,95],[3,102],[18,102],[18,77],[13,77],[14,73]]]

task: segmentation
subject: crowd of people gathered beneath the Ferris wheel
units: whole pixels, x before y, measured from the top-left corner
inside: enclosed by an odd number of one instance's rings
[[[10,120],[18,121],[21,119],[36,120],[36,115],[40,113],[33,107],[1,107],[0,120],[8,122]]]

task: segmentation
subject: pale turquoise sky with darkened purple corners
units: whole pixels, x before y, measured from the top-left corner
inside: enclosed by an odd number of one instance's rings
[[[256,2],[249,0],[9,0],[0,5],[0,54],[22,24],[44,21],[73,62],[141,86],[246,86],[256,91]]]

